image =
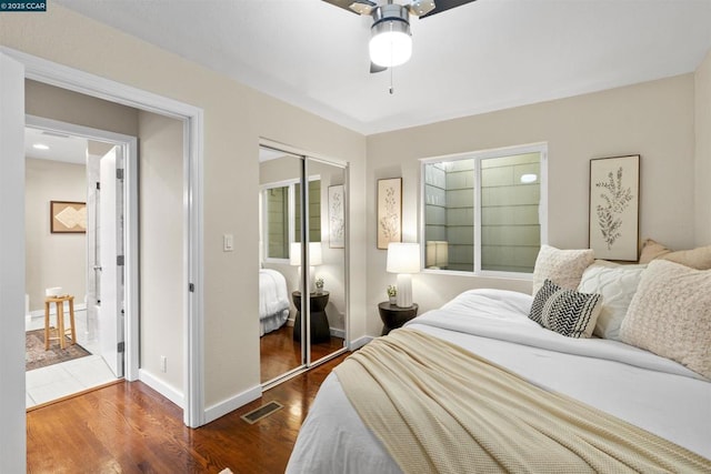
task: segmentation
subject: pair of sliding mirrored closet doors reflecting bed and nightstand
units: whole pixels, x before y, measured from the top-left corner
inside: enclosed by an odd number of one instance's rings
[[[346,177],[346,169],[337,164],[260,148],[264,385],[343,350]]]

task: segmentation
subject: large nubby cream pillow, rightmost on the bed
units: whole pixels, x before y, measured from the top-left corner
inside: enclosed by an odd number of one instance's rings
[[[653,260],[642,273],[620,337],[711,379],[711,270]]]

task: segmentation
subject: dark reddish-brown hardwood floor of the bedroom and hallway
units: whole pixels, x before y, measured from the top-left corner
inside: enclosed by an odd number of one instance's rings
[[[197,430],[141,382],[118,383],[27,415],[30,473],[283,473],[323,379],[346,355],[298,375]],[[241,415],[283,409],[250,425]]]

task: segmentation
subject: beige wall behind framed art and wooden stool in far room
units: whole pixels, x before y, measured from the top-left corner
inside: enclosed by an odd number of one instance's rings
[[[83,164],[26,159],[24,232],[26,292],[30,311],[44,309],[44,289],[61,286],[74,295],[87,294],[87,234],[50,232],[50,201],[87,201]]]

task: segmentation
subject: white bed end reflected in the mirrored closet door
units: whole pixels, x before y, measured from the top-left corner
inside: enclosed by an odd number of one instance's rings
[[[276,331],[289,319],[287,280],[276,270],[259,270],[259,335]]]

